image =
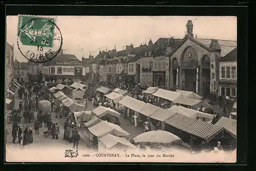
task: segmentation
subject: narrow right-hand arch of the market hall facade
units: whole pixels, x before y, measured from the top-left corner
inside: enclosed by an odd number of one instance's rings
[[[203,97],[207,98],[210,93],[210,58],[208,55],[204,55],[201,60],[201,79]],[[212,65],[212,67],[214,67]]]

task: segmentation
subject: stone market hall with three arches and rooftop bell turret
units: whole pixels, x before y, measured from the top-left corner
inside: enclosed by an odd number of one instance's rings
[[[197,39],[193,23],[187,23],[187,35],[170,56],[166,56],[166,80],[169,88],[194,91],[208,97],[218,95],[219,60],[237,47],[237,41]],[[170,80],[169,80],[170,79]]]

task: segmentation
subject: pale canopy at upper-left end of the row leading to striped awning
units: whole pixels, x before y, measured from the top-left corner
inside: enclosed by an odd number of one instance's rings
[[[143,108],[143,106],[146,105],[146,103],[139,101],[137,99],[131,98],[129,96],[125,96],[118,103],[137,112],[139,112]]]

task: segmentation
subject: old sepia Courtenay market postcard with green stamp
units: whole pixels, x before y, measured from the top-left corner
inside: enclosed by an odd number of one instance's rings
[[[7,162],[236,162],[237,17],[20,14],[6,31]]]

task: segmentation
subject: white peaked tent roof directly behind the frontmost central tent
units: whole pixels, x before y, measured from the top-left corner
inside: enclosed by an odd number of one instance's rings
[[[112,134],[119,137],[130,136],[130,134],[123,130],[120,126],[106,121],[101,121],[88,129],[96,137],[102,137],[107,134]]]

